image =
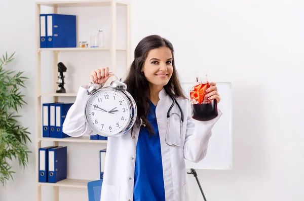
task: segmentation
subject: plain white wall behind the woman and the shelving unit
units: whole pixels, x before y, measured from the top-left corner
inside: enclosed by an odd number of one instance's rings
[[[131,2],[132,51],[142,37],[160,34],[173,43],[176,66],[184,82],[192,81],[191,74],[186,73],[189,68],[199,68],[208,69],[215,81],[233,83],[233,170],[197,170],[207,200],[302,200],[304,3]],[[31,108],[35,97],[29,93],[35,88],[34,1],[4,0],[0,8],[0,53],[16,51],[17,59],[11,67],[25,70],[31,78],[23,90],[28,106],[21,112],[21,123],[30,128],[33,144],[28,146],[34,151]],[[96,62],[86,62],[88,68],[97,66]],[[86,78],[82,77],[82,81]],[[77,84],[73,87],[77,89]],[[68,147],[77,155],[71,157],[71,163],[77,163],[76,157],[84,158],[101,148],[84,144]],[[34,163],[34,154],[25,171],[13,163],[15,181],[8,182],[6,188],[0,187],[1,201],[36,200]],[[90,163],[97,166],[98,162]],[[69,174],[94,179],[93,165],[81,164]],[[195,179],[189,177],[191,200],[202,200]],[[52,200],[51,188],[43,188],[43,193],[49,196],[44,201]],[[85,200],[84,194],[82,190],[60,189],[64,200]]]

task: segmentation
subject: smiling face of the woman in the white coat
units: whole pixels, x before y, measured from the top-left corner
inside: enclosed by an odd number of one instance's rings
[[[167,47],[152,49],[149,51],[144,62],[144,73],[150,87],[163,87],[168,84],[172,73],[172,53]]]

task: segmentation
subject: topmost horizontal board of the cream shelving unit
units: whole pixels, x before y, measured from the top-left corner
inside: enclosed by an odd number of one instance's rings
[[[71,1],[71,2],[37,2],[37,5],[51,6],[57,8],[64,7],[100,7],[100,6],[111,6],[110,0],[99,0],[99,1]],[[118,6],[126,6],[126,3],[118,3]]]

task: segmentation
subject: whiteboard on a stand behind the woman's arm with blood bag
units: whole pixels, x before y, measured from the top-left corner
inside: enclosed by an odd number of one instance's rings
[[[193,83],[181,83],[187,98],[189,98],[189,87]],[[216,83],[217,91],[221,97],[218,109],[222,115],[212,128],[207,154],[199,163],[189,162],[185,159],[187,169],[232,169],[232,97],[231,83]]]

